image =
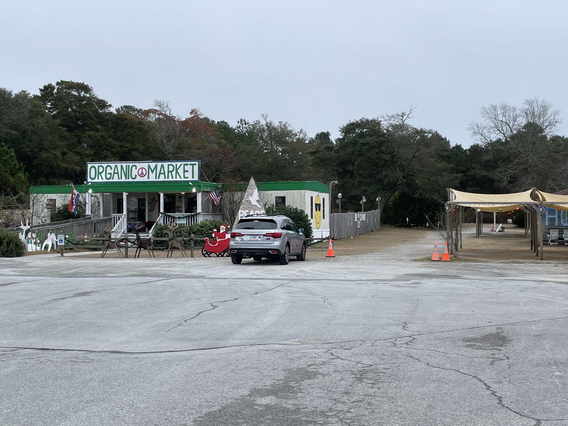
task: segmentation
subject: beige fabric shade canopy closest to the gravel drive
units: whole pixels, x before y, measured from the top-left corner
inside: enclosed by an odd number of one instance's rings
[[[515,210],[515,208],[521,208],[525,204],[535,203],[531,198],[531,194],[533,194],[532,189],[522,193],[511,194],[476,194],[450,189],[450,203],[458,204],[458,206],[463,207],[479,208],[482,211],[499,212]],[[559,195],[558,197],[563,196]],[[568,199],[568,196],[565,197]],[[568,208],[566,208],[566,210],[568,210]]]

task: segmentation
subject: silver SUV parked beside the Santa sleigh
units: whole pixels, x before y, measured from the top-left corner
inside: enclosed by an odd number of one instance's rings
[[[283,215],[248,215],[239,220],[233,232],[229,253],[233,264],[244,258],[256,261],[262,258],[278,258],[287,265],[290,256],[306,260],[306,236],[290,218]]]

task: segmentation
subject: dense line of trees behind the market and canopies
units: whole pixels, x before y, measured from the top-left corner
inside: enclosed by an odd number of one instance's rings
[[[366,210],[376,208],[381,197],[383,222],[394,224],[433,217],[448,187],[568,187],[568,139],[556,135],[559,111],[542,99],[483,107],[467,148],[412,126],[414,111],[350,121],[333,140],[264,114],[229,124],[197,108],[179,116],[166,101],[113,110],[83,82],[49,83],[36,94],[0,88],[0,208],[25,203],[30,185],[82,183],[90,161],[201,160],[202,180],[220,183],[339,179],[332,198],[343,194],[344,211],[360,210],[362,197]]]

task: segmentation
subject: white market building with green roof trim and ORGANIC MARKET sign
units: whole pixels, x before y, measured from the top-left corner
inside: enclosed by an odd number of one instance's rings
[[[86,165],[82,185],[31,186],[30,208],[34,222],[48,223],[53,211],[69,204],[74,187],[85,203],[86,215],[112,217],[113,235],[121,235],[138,222],[147,224],[149,231],[154,223],[169,220],[186,224],[229,221],[228,210],[233,205],[238,208],[247,185],[203,182],[199,161],[93,162]],[[316,181],[256,185],[265,206],[298,207],[310,218],[314,236],[329,235],[331,204],[327,185]],[[218,188],[221,201],[215,204],[211,194]]]

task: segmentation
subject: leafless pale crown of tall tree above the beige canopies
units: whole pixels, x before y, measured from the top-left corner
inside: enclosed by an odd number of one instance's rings
[[[509,139],[527,123],[538,124],[545,135],[550,136],[562,122],[560,111],[537,97],[525,99],[520,108],[504,102],[483,107],[481,117],[481,122],[470,123],[469,130],[471,136],[483,144],[496,139]]]

